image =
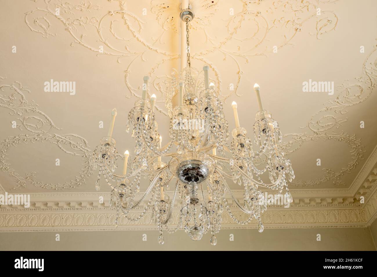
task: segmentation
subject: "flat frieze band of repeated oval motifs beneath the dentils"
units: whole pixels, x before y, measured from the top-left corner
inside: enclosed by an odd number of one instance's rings
[[[179,211],[174,211],[170,226],[175,227]],[[241,211],[233,211],[238,218],[244,219]],[[262,219],[265,228],[335,228],[367,227],[368,211],[363,209],[338,210],[293,210],[270,209]],[[245,218],[246,219],[246,218]],[[0,232],[19,231],[95,231],[95,230],[156,230],[150,215],[138,221],[121,218],[118,228],[114,226],[115,212],[105,209],[72,210],[66,212],[32,211],[0,213]],[[256,221],[247,225],[233,222],[227,213],[223,215],[222,229],[256,228]]]

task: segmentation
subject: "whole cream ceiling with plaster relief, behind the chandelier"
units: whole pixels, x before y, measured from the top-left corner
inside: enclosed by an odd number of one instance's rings
[[[377,2],[190,3],[195,12],[192,65],[210,65],[230,128],[235,100],[241,125],[251,136],[257,82],[264,106],[285,134],[285,152],[296,174],[294,193],[303,199],[340,197],[342,203],[344,196],[353,198],[376,160]],[[67,192],[68,198],[94,195],[98,172],[89,161],[107,133],[112,108],[118,110],[117,148],[134,148],[126,118],[141,96],[144,75],[151,78],[150,94],[158,97],[159,131],[168,137],[159,88],[180,64],[180,1],[1,0],[1,6],[4,190],[41,193],[40,201],[57,192]],[[44,92],[44,82],[51,79],[74,81],[75,95]],[[333,81],[334,94],[303,92],[302,83],[309,79]]]

